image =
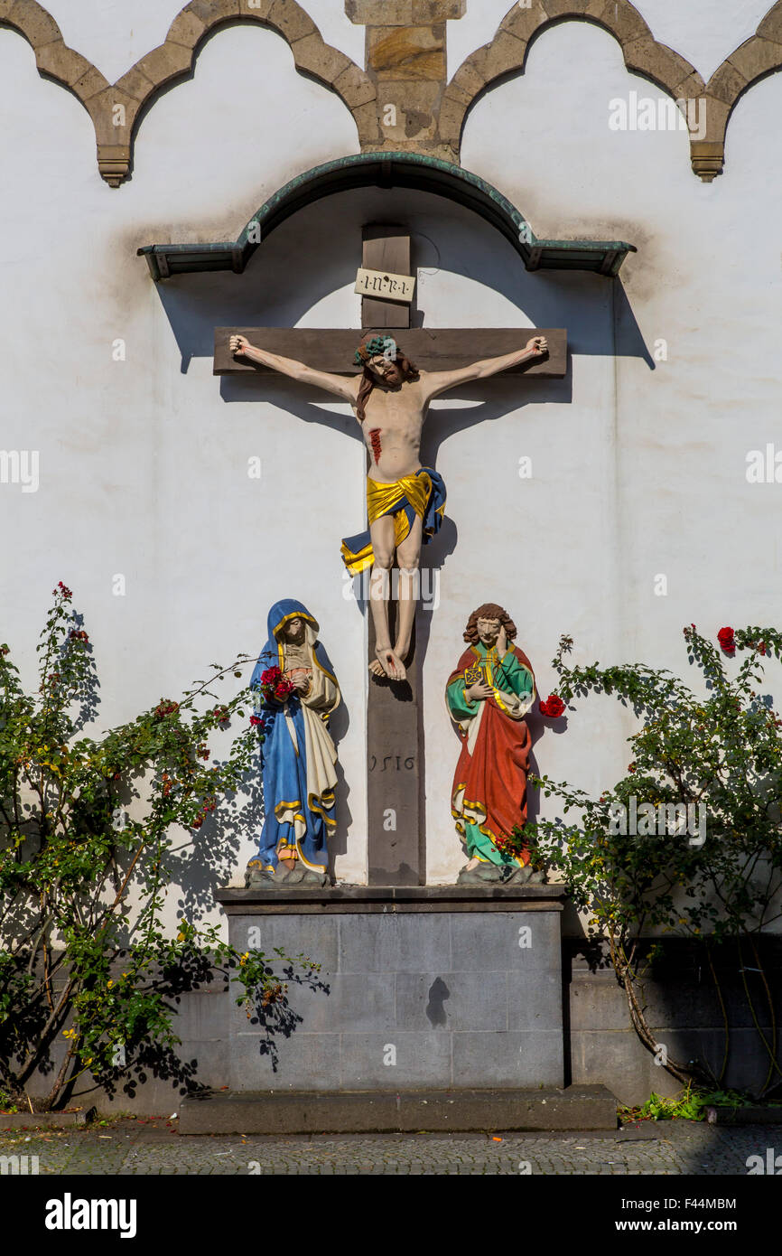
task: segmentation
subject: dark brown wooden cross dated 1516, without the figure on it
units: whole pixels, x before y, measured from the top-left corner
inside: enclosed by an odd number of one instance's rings
[[[377,224],[365,226],[363,269],[382,275],[410,275],[408,229]],[[414,328],[410,327],[409,303],[363,296],[362,329],[218,327],[215,329],[215,374],[271,373],[265,367],[233,358],[228,339],[235,334],[247,337],[251,344],[271,353],[305,362],[316,371],[358,374],[362,367],[355,364],[354,353],[363,332],[383,333],[389,329],[404,330],[404,335],[399,337],[402,348],[423,371],[451,371],[482,358],[501,357],[518,349],[532,335],[546,337],[549,354],[515,371],[555,379],[561,379],[567,371],[567,337],[561,328]],[[306,590],[299,592],[306,602]],[[472,609],[466,607],[466,615]],[[368,619],[369,654],[374,657],[372,617],[368,615]],[[423,677],[418,654],[413,638],[403,686],[388,681],[369,686],[367,795],[370,885],[426,883]],[[454,756],[456,752],[454,742]],[[447,799],[443,799],[443,806],[448,806]]]

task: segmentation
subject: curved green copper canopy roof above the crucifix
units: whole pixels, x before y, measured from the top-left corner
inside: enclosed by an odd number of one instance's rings
[[[412,187],[464,205],[513,245],[527,270],[591,270],[614,276],[626,255],[638,251],[624,240],[538,240],[523,215],[477,175],[422,153],[379,152],[340,157],[297,175],[261,205],[238,240],[148,244],[138,249],[138,256],[147,259],[156,283],[200,270],[241,274],[260,242],[291,215],[324,196],[373,185]]]

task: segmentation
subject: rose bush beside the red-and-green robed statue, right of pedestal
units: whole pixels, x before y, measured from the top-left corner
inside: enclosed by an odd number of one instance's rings
[[[672,672],[644,664],[569,667],[572,639],[562,637],[552,666],[565,702],[589,693],[615,696],[640,727],[629,737],[626,775],[597,798],[549,776],[531,776],[562,815],[526,826],[533,863],[545,862],[567,883],[585,913],[589,942],[606,946],[644,1045],[659,1054],[645,1016],[643,981],[661,957],[660,937],[685,937],[710,973],[724,1017],[722,1066],[661,1058],[682,1081],[720,1084],[729,1051],[729,1016],[714,956],[739,983],[766,1056],[757,1094],[782,1083],[774,991],[763,970],[758,939],[782,918],[782,717],[763,691],[766,658],[782,658],[773,628],[723,628],[720,649],[684,628],[697,690]],[[744,657],[726,671],[728,643]],[[777,683],[781,677],[777,676]],[[550,702],[551,700],[549,700]],[[635,803],[659,814],[677,806],[703,809],[705,839],[667,830],[648,836],[616,824]],[[569,819],[572,811],[576,819]],[[678,814],[678,813],[677,813]],[[689,815],[689,811],[687,813]],[[700,811],[698,811],[700,814]],[[621,831],[624,829],[624,831]],[[640,829],[640,826],[639,826]],[[723,971],[724,971],[723,968]]]

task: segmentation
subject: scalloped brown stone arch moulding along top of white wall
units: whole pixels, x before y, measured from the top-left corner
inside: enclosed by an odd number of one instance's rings
[[[530,44],[544,30],[570,20],[590,21],[611,34],[621,46],[628,69],[650,79],[683,102],[684,108],[688,100],[705,100],[707,133],[703,139],[690,139],[690,156],[693,171],[707,181],[722,173],[726,129],[739,98],[782,69],[782,0],[777,0],[754,35],[726,58],[708,83],[685,58],[654,38],[629,0],[532,0],[530,8],[515,4],[495,38],[458,68],[439,104],[436,134],[417,142],[414,151],[437,151],[458,162],[462,129],[472,104],[492,83],[523,72]],[[39,72],[73,92],[88,111],[95,128],[98,168],[112,187],[129,175],[134,131],[143,111],[166,84],[192,73],[206,38],[236,21],[252,21],[277,31],[289,44],[296,69],[335,92],[350,111],[362,149],[372,152],[382,147],[372,75],[324,41],[297,0],[191,0],[172,21],[163,43],[114,84],[65,44],[56,21],[38,0],[0,0],[0,25],[24,35],[35,53]]]

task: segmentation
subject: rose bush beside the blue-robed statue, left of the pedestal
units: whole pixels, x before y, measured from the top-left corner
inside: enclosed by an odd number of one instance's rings
[[[25,1109],[62,1105],[77,1085],[132,1090],[149,1069],[196,1085],[176,1055],[174,999],[215,971],[247,1015],[257,999],[282,1000],[260,951],[238,955],[183,914],[173,931],[163,923],[172,868],[179,883],[187,874],[174,838],[181,847],[183,829],[201,829],[257,771],[257,727],[244,725],[217,761],[207,746],[252,702],[242,688],[215,706],[212,686],[252,659],[212,664],[178,701],[88,736],[97,679],[72,597],[60,582],[36,692],[0,646],[0,1104]]]

